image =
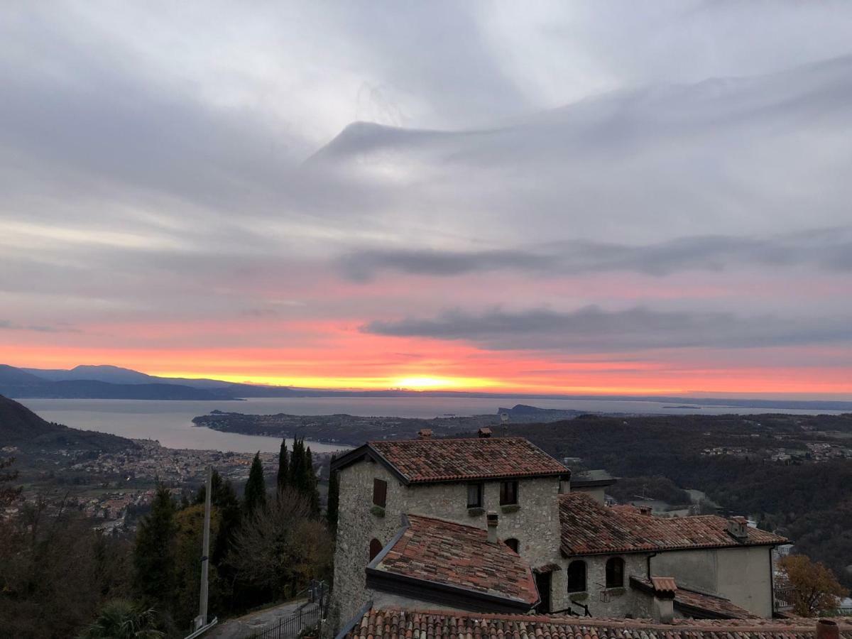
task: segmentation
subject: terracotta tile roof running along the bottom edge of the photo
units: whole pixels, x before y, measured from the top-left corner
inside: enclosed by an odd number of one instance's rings
[[[838,621],[838,619],[834,619]],[[838,621],[852,639],[848,619]],[[350,639],[814,639],[816,619],[591,619],[440,610],[368,610]]]

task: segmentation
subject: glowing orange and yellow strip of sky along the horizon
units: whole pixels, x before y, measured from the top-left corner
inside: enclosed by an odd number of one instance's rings
[[[50,336],[48,336],[50,337]],[[111,364],[161,377],[206,377],[316,389],[448,390],[502,394],[619,394],[852,398],[852,371],[805,363],[757,366],[696,351],[584,354],[570,360],[521,351],[492,352],[462,343],[386,340],[342,333],[320,346],[292,348],[85,348],[0,343],[0,363],[34,368]],[[392,348],[389,348],[392,343]],[[754,353],[752,353],[753,355]],[[824,354],[819,353],[820,357]],[[732,358],[733,359],[733,358]]]

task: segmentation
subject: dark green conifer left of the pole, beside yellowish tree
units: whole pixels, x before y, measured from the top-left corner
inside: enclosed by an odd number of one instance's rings
[[[168,610],[175,595],[175,504],[162,484],[139,524],[133,551],[134,589],[146,602]]]

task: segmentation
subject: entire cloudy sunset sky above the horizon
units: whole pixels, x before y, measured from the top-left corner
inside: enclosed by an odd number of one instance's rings
[[[0,363],[852,399],[850,29],[847,2],[9,3]]]

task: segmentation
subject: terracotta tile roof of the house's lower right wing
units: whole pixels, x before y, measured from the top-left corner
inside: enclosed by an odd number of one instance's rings
[[[728,533],[728,521],[716,515],[642,515],[632,507],[598,504],[584,492],[559,496],[559,518],[562,552],[567,556],[787,543],[786,538],[757,528],[749,528],[746,539],[734,538]]]

